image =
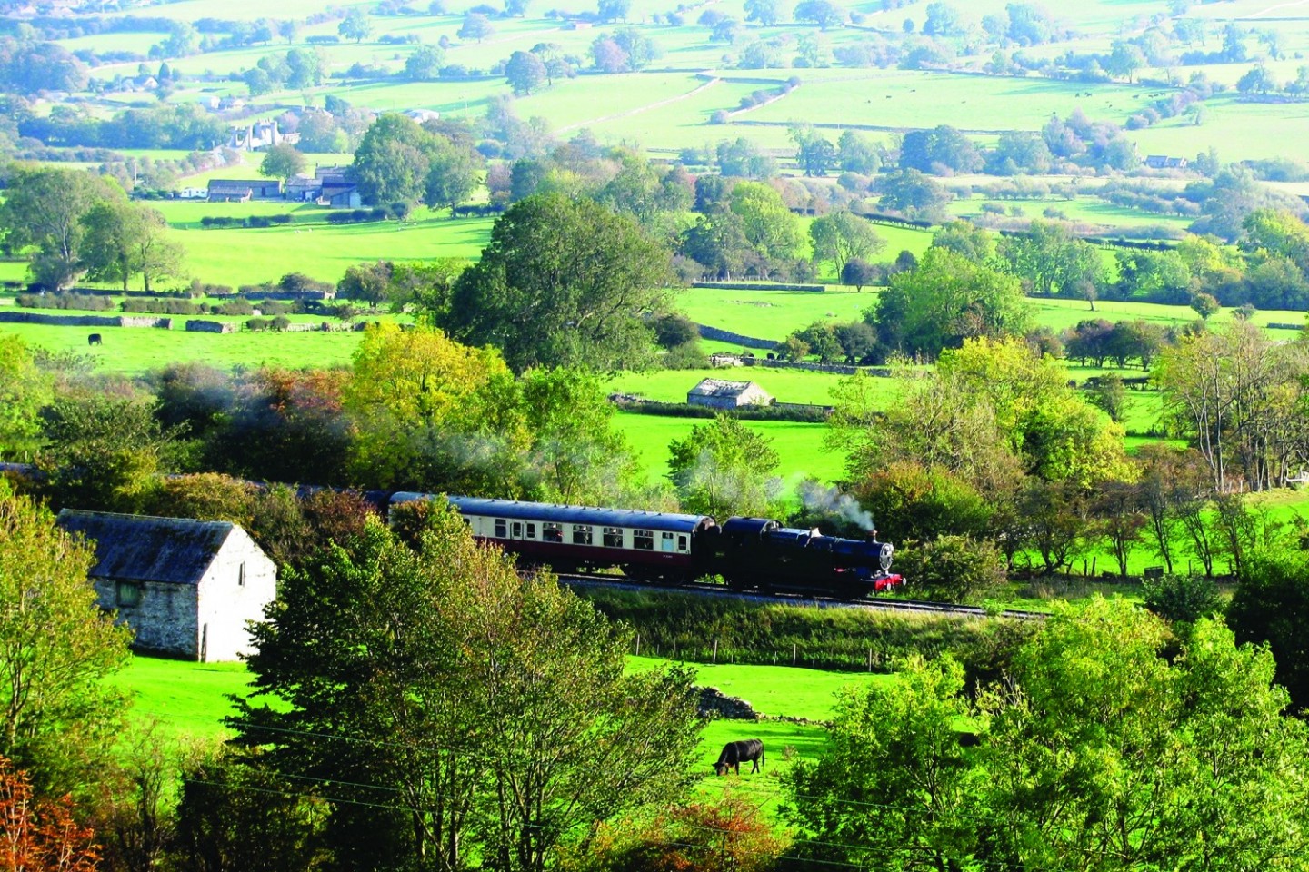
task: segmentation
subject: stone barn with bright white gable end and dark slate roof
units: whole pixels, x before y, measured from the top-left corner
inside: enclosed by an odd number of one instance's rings
[[[134,647],[200,663],[253,652],[249,621],[278,594],[278,567],[237,524],[64,509],[59,526],[96,544],[90,579]]]

